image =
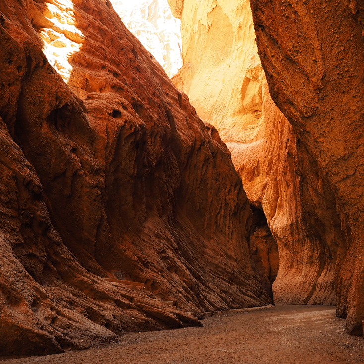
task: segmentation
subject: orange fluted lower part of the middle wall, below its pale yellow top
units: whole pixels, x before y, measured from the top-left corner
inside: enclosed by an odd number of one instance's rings
[[[279,304],[336,303],[345,236],[335,197],[263,83],[260,140],[228,143],[249,199],[261,205],[278,243],[273,283]],[[268,244],[269,246],[269,244]]]

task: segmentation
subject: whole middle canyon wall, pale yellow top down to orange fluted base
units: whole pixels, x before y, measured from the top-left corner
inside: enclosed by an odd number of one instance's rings
[[[172,81],[217,128],[251,204],[265,213],[275,241],[265,227],[250,248],[272,283],[278,244],[275,303],[335,304],[345,221],[325,173],[270,97],[249,1],[170,4],[181,19],[184,61]]]

